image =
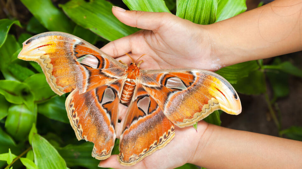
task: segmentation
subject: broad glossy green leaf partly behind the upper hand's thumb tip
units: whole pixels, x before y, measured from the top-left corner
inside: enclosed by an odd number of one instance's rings
[[[77,24],[112,41],[132,34],[139,29],[121,23],[112,14],[112,3],[105,0],[85,2],[71,0],[60,4],[64,12]]]

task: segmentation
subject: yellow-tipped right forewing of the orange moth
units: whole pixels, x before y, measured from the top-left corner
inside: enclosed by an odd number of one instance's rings
[[[138,80],[166,117],[179,127],[193,125],[218,109],[234,115],[241,112],[232,85],[210,71],[140,70]]]

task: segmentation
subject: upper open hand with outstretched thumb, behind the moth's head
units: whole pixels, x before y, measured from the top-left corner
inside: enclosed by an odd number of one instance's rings
[[[143,54],[142,69],[198,68],[217,70],[219,58],[212,55],[205,25],[192,23],[171,13],[126,11],[112,8],[113,14],[126,25],[143,30],[117,39],[101,50],[126,64]]]

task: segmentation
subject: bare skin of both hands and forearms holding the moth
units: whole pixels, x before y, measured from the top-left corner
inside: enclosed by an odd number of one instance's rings
[[[255,59],[302,50],[302,0],[276,0],[211,25],[198,25],[169,13],[126,11],[113,14],[143,30],[101,50],[126,64],[141,55],[141,69],[198,68],[217,70]],[[120,105],[121,123],[126,106]],[[244,113],[244,112],[243,112]],[[120,134],[118,125],[117,136]],[[175,168],[193,163],[206,168],[301,168],[302,142],[238,131],[199,121],[178,128],[163,149],[134,166],[121,166],[112,155],[100,162],[112,168]],[[190,143],[190,144],[188,144]]]

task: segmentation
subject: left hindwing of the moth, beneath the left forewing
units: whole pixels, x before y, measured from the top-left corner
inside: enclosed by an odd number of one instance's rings
[[[78,140],[94,143],[92,156],[103,160],[111,155],[118,120],[119,96],[123,79],[79,94],[73,90],[65,107]]]

